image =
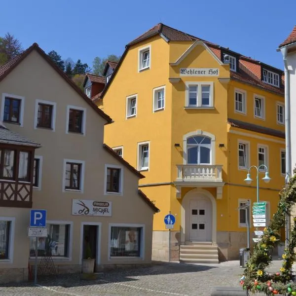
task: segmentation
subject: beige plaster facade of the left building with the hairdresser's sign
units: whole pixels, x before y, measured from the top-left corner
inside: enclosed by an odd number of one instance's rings
[[[138,192],[138,181],[143,176],[103,147],[106,118],[100,116],[83,94],[44,58],[39,47],[34,46],[0,79],[0,118],[3,119],[5,97],[21,98],[20,124],[3,124],[42,146],[35,152],[35,158],[41,161],[38,187],[33,189],[33,209],[47,210],[49,224],[68,225],[67,256],[52,257],[58,272],[81,272],[84,225],[96,226],[95,271],[114,264],[149,263],[156,208]],[[51,129],[36,126],[40,101],[53,106]],[[83,111],[82,133],[68,132],[69,108]],[[65,189],[67,160],[82,165],[80,190]],[[120,169],[119,193],[106,193],[106,172],[110,166]],[[73,215],[74,199],[111,202],[111,216]],[[0,259],[0,282],[28,279],[28,262],[30,265],[34,262],[30,258],[29,215],[29,208],[0,207],[0,219],[11,221],[8,259]],[[111,226],[141,229],[140,256],[111,257]]]

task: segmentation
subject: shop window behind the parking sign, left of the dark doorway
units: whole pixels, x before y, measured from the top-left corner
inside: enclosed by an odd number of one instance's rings
[[[47,237],[37,238],[37,256],[69,257],[69,242],[70,224],[47,223]],[[35,237],[30,237],[30,257],[35,256]]]

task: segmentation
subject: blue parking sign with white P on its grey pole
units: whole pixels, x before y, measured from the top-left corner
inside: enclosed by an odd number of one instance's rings
[[[31,210],[30,213],[30,227],[28,229],[28,236],[35,236],[35,270],[34,270],[34,284],[37,284],[37,260],[38,260],[38,237],[47,236],[46,227],[46,210]]]

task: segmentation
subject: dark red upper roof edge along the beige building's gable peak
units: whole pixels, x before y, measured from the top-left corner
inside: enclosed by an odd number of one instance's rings
[[[51,60],[51,58],[39,47],[37,43],[33,43],[23,53],[0,67],[0,82],[14,69],[16,68],[33,50],[36,50],[42,58],[64,79],[66,82],[76,91],[76,93],[101,117],[103,117],[107,123],[111,123],[112,119],[105,112],[99,109],[89,98],[81,91],[81,89]]]

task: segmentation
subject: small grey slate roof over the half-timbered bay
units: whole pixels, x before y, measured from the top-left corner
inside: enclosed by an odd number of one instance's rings
[[[0,124],[0,144],[21,145],[39,148],[40,144],[29,140],[18,133],[10,131],[4,125]]]

